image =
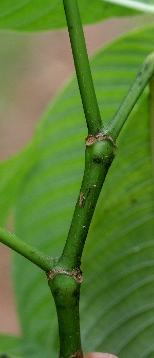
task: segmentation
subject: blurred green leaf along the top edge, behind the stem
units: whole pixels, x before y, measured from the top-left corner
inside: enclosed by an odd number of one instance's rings
[[[100,0],[79,0],[83,24],[136,11]],[[1,0],[0,29],[42,31],[66,27],[62,0]]]

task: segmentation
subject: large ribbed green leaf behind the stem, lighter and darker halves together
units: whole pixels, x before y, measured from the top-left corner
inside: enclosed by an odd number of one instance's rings
[[[91,60],[104,123],[153,50],[153,35],[153,28],[128,34]],[[27,174],[17,203],[17,235],[52,256],[61,254],[71,222],[84,170],[86,135],[73,78],[37,126],[38,161]],[[151,358],[154,214],[148,88],[117,144],[118,154],[107,175],[82,259],[82,342],[84,352],[102,350],[120,358]],[[57,318],[45,274],[15,254],[14,278],[25,340],[34,340],[45,350],[52,346],[53,356],[58,355]]]

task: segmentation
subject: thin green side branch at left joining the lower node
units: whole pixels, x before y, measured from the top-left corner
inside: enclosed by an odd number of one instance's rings
[[[18,252],[22,256],[26,257],[31,262],[35,263],[44,271],[49,271],[53,267],[53,259],[26,242],[11,234],[9,231],[0,227],[0,242],[7,245],[12,250]]]

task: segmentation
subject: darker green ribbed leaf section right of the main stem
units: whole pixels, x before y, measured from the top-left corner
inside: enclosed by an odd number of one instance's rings
[[[82,258],[83,346],[85,351],[90,345],[92,351],[109,351],[119,358],[145,358],[154,348],[154,211],[147,100],[122,135]]]

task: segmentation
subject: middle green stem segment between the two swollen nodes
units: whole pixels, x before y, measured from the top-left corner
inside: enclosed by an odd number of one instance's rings
[[[78,201],[59,265],[80,266],[81,256],[102,185],[117,148],[108,139],[86,146],[85,171]]]

